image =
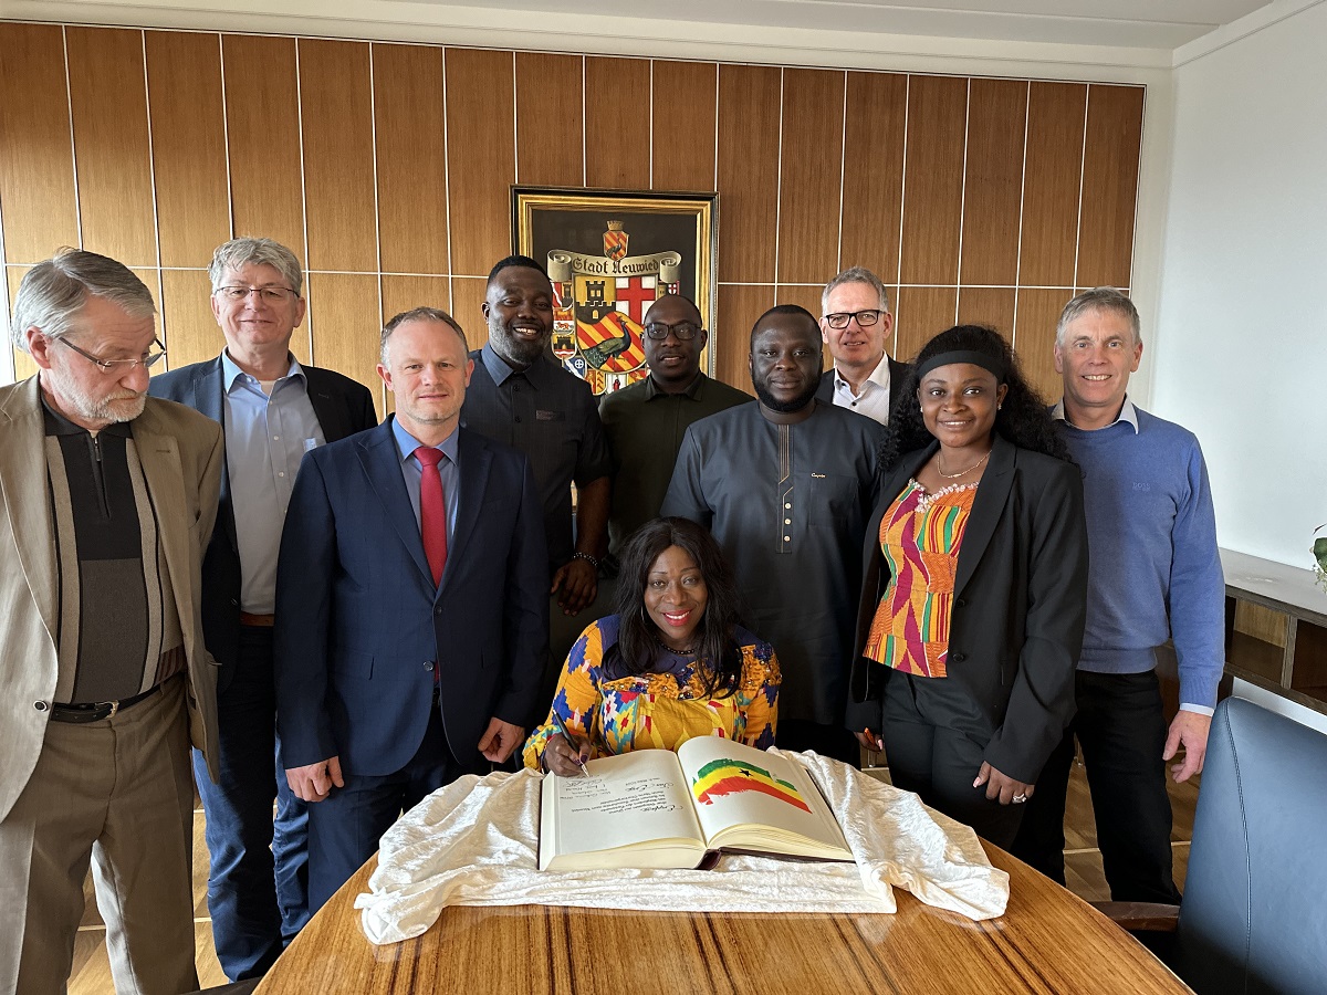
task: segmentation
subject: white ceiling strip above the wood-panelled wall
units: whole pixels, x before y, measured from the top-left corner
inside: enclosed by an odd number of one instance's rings
[[[446,0],[409,3],[458,7]],[[1269,3],[1271,0],[913,0],[910,4],[884,0],[464,0],[462,5],[514,12],[535,8],[541,17],[608,15],[645,21],[1169,50]],[[179,0],[182,7],[188,4],[190,0]],[[573,29],[575,21],[567,27]]]

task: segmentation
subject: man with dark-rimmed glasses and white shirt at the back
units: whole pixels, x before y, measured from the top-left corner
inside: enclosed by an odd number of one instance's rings
[[[825,284],[820,293],[820,337],[829,346],[833,366],[820,378],[816,397],[888,423],[908,373],[906,364],[885,352],[893,330],[885,285],[869,269],[852,267]]]

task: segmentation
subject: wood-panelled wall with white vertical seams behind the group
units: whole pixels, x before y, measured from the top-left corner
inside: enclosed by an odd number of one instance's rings
[[[61,245],[106,252],[159,295],[173,366],[220,348],[202,271],[232,235],[307,265],[301,360],[377,389],[381,321],[425,302],[482,342],[515,182],[718,190],[739,387],[759,313],[819,314],[852,264],[889,285],[896,356],[989,322],[1048,393],[1063,302],[1131,283],[1140,86],[0,24],[0,93],[9,300]]]

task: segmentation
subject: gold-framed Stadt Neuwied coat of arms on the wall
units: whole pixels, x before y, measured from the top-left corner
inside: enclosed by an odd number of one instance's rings
[[[666,293],[714,316],[718,194],[511,188],[512,245],[548,268],[553,354],[596,394],[644,379],[645,312]],[[714,330],[702,357],[714,373]]]

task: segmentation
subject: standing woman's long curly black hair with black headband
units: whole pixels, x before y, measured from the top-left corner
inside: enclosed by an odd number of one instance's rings
[[[933,356],[949,352],[975,352],[991,357],[997,367],[1003,367],[1001,381],[1009,387],[1005,402],[995,413],[995,431],[1019,448],[1044,452],[1047,456],[1072,463],[1068,448],[1055,431],[1055,422],[1046,410],[1046,401],[1027,382],[1014,349],[1003,336],[985,325],[955,325],[932,338],[917,353],[908,367],[898,390],[898,402],[889,413],[889,426],[880,443],[880,466],[893,470],[905,454],[930,446],[936,439],[926,431],[917,403],[921,378],[917,370]]]

